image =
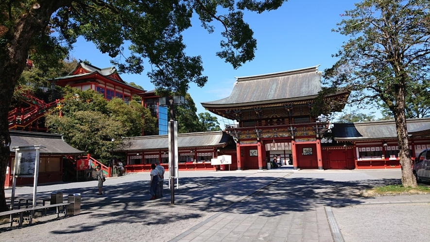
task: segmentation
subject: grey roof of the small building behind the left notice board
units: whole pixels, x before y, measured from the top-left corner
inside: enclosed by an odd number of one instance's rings
[[[71,147],[63,140],[63,136],[59,134],[18,130],[9,130],[9,133],[11,136],[11,152],[14,152],[14,150],[12,149],[13,147],[41,145],[45,148],[40,149],[40,154],[73,155],[85,153],[83,151]]]

